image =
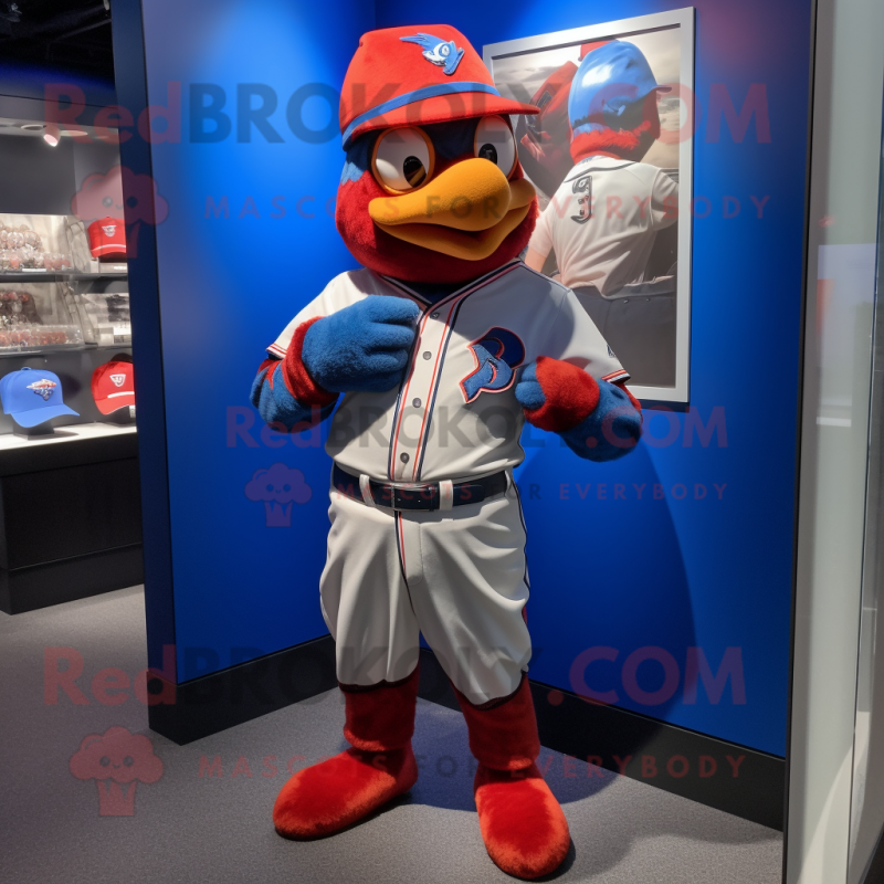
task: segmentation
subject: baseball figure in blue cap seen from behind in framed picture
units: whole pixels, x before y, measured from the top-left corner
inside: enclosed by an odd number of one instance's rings
[[[561,282],[633,379],[652,386],[675,376],[675,250],[661,274],[650,259],[657,233],[678,220],[678,185],[677,175],[642,160],[660,138],[657,102],[670,91],[625,40],[583,56],[568,95],[575,165],[541,212],[525,259],[543,271],[554,252]]]

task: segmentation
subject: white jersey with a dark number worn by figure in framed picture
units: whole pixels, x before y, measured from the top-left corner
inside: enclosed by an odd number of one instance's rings
[[[587,157],[566,176],[537,220],[528,248],[556,251],[561,282],[602,295],[644,282],[659,230],[678,217],[678,185],[656,166]]]

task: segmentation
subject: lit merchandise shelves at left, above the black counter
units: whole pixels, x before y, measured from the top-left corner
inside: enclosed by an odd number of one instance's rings
[[[94,389],[99,369],[131,359],[118,135],[83,125],[48,138],[45,123],[4,114],[6,106],[0,96],[0,382],[22,371],[39,377],[15,407],[2,401],[0,439],[18,444],[11,436],[27,427],[21,409],[34,393],[70,409],[28,441],[53,432],[72,440],[90,425],[134,430],[133,402],[103,409]]]

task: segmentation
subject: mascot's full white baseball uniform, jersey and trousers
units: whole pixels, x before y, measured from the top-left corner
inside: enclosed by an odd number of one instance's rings
[[[394,512],[370,494],[330,491],[332,529],[319,581],[341,684],[397,682],[414,670],[423,633],[471,703],[512,694],[530,636],[525,526],[512,469],[523,460],[517,370],[538,356],[567,359],[597,379],[627,372],[575,294],[520,261],[434,304],[368,270],[343,273],[269,348],[285,356],[302,323],[369,295],[421,307],[402,383],[347,393],[326,450],[349,473],[445,482],[506,471],[505,494],[433,512]]]

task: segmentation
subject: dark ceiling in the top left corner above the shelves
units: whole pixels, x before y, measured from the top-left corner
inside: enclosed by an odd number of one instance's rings
[[[114,80],[109,2],[0,0],[0,59]]]

